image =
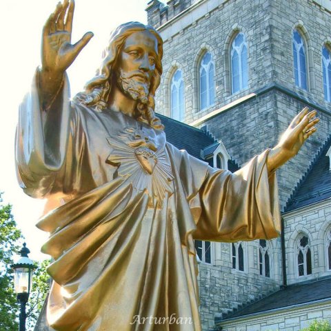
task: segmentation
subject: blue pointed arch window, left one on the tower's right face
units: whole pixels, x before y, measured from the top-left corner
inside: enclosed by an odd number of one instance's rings
[[[295,85],[307,90],[306,50],[303,37],[298,30],[293,31],[293,61]]]

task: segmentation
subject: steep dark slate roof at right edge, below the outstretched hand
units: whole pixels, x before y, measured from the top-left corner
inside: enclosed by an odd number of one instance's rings
[[[331,197],[330,159],[325,155],[330,146],[331,138],[329,137],[308,174],[299,183],[292,198],[288,201],[285,212]]]

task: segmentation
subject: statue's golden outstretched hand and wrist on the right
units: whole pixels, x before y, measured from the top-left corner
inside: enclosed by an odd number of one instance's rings
[[[308,107],[305,107],[294,117],[277,146],[269,153],[267,161],[269,173],[297,155],[303,143],[317,130],[315,125],[319,119],[315,117],[316,114],[316,110],[309,112]]]

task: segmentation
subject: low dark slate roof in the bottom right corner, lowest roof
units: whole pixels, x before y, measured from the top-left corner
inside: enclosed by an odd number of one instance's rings
[[[279,308],[290,308],[293,305],[313,303],[323,299],[331,300],[331,278],[289,285],[233,314],[227,314],[223,319],[215,319],[215,323]]]

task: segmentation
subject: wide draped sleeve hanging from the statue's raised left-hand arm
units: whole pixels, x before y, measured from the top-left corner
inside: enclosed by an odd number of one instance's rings
[[[37,75],[36,75],[37,76]],[[59,172],[68,157],[70,140],[70,92],[65,77],[59,96],[49,110],[41,110],[34,77],[32,88],[19,108],[16,134],[17,177],[31,197],[43,198],[54,191]]]

